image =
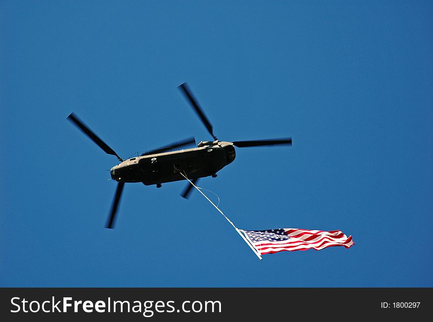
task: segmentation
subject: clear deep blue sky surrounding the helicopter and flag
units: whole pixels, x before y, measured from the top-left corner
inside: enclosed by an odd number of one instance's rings
[[[0,286],[432,287],[431,1],[1,1]],[[350,249],[259,261],[185,182],[117,163],[211,137],[237,149],[200,186],[241,229],[341,230]],[[212,195],[210,195],[211,198]]]

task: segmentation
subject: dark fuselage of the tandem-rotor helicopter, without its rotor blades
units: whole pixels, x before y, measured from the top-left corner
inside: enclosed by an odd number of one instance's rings
[[[137,156],[110,169],[118,182],[142,182],[145,185],[214,176],[233,162],[236,151],[231,142],[200,142],[198,147],[180,151]]]

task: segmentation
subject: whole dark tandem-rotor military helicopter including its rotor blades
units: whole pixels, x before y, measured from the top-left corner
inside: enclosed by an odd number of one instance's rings
[[[107,218],[106,228],[114,228],[116,213],[124,184],[127,182],[142,182],[145,185],[156,185],[160,188],[162,183],[185,180],[185,174],[192,183],[196,183],[199,178],[212,176],[226,165],[233,162],[236,157],[236,147],[248,146],[272,146],[272,145],[292,145],[291,138],[267,139],[253,141],[219,141],[215,136],[213,127],[209,119],[203,113],[197,100],[192,95],[191,90],[183,83],[178,88],[185,95],[186,100],[191,104],[197,116],[201,119],[208,132],[214,138],[213,141],[201,141],[197,147],[179,150],[179,147],[194,144],[193,137],[174,142],[170,145],[147,151],[133,158],[123,160],[111,147],[103,142],[88,126],[86,126],[74,113],[67,119],[73,122],[84,134],[96,143],[106,153],[114,155],[120,161],[110,169],[113,180],[118,181],[116,195],[113,205]],[[192,185],[188,183],[186,189],[181,194],[188,198]]]

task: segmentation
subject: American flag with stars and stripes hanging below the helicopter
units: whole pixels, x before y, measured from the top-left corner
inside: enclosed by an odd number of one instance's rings
[[[331,246],[349,248],[355,243],[352,236],[340,231],[318,231],[297,228],[279,228],[264,231],[243,231],[260,255],[281,251],[321,250]]]

